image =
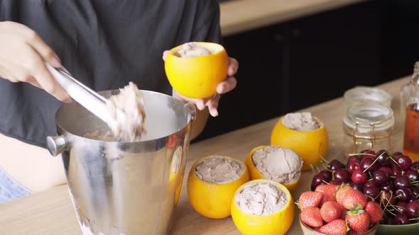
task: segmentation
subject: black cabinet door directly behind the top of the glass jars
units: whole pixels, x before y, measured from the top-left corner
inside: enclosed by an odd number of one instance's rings
[[[292,21],[287,112],[379,84],[381,13],[369,1]]]

